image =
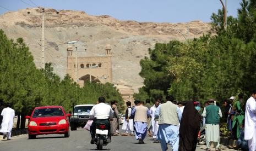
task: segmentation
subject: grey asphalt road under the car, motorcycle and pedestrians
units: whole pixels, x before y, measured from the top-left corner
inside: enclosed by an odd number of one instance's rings
[[[90,144],[89,131],[83,129],[70,131],[69,138],[65,138],[64,135],[41,135],[37,136],[34,140],[28,140],[28,135],[20,135],[12,137],[10,141],[2,140],[2,138],[0,140],[1,151],[96,150],[96,145]],[[138,144],[138,141],[135,140],[135,136],[112,136],[112,143],[104,147],[104,150],[161,150],[160,143],[150,141],[150,137],[146,137],[144,142],[145,144]],[[203,150],[201,148],[204,147],[197,147],[197,151]]]

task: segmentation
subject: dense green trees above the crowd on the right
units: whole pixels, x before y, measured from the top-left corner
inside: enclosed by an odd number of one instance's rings
[[[140,62],[144,87],[134,96],[170,94],[178,101],[193,97],[221,101],[239,92],[249,96],[256,84],[255,12],[256,0],[243,0],[238,18],[228,16],[227,30],[219,10],[211,16],[217,35],[156,44],[149,49],[150,57]]]

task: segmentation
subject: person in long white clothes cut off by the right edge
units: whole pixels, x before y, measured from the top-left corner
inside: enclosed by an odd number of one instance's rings
[[[256,90],[246,102],[244,140],[248,140],[249,151],[256,151]]]

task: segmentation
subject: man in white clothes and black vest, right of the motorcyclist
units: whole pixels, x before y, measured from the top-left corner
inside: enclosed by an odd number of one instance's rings
[[[133,135],[133,118],[132,116],[132,107],[130,107],[132,103],[130,101],[126,102],[126,118],[124,119],[122,130],[126,130],[125,133],[122,133],[122,136]]]

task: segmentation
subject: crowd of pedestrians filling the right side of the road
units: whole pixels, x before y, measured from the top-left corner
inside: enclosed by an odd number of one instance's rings
[[[237,148],[255,151],[256,91],[252,92],[248,101],[244,101],[243,97],[243,94],[239,94],[237,99],[231,96],[222,106],[214,99],[209,99],[204,102],[204,107],[197,100],[177,102],[173,96],[167,96],[165,103],[157,99],[153,106],[150,106],[149,100],[146,103],[135,100],[135,106],[128,101],[122,126],[125,132],[121,135],[135,135],[138,143],[143,144],[148,134],[152,140],[160,142],[162,150],[168,150],[168,144],[172,150],[195,150],[199,130],[204,129],[206,150],[210,150],[212,143],[215,150],[220,150],[220,121],[223,112],[226,129],[230,131],[228,137],[237,140]],[[111,103],[113,112],[116,106]],[[116,125],[118,118],[111,123]],[[117,127],[112,127],[112,135],[119,135]]]

